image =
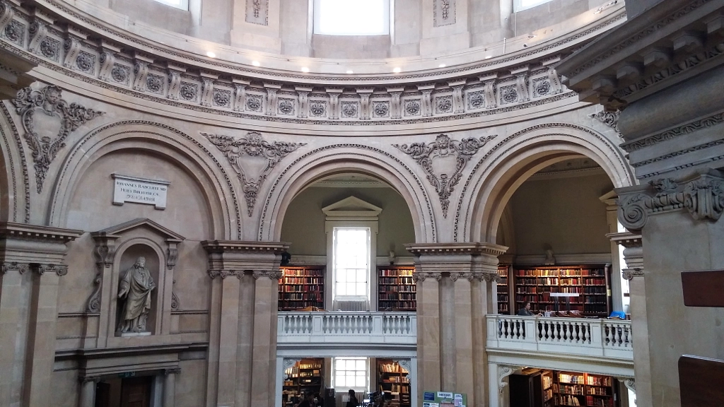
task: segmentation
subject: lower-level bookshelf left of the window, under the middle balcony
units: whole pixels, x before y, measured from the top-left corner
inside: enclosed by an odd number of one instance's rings
[[[286,369],[282,387],[282,406],[296,406],[305,393],[324,394],[322,372],[324,372],[323,358],[303,359]]]

